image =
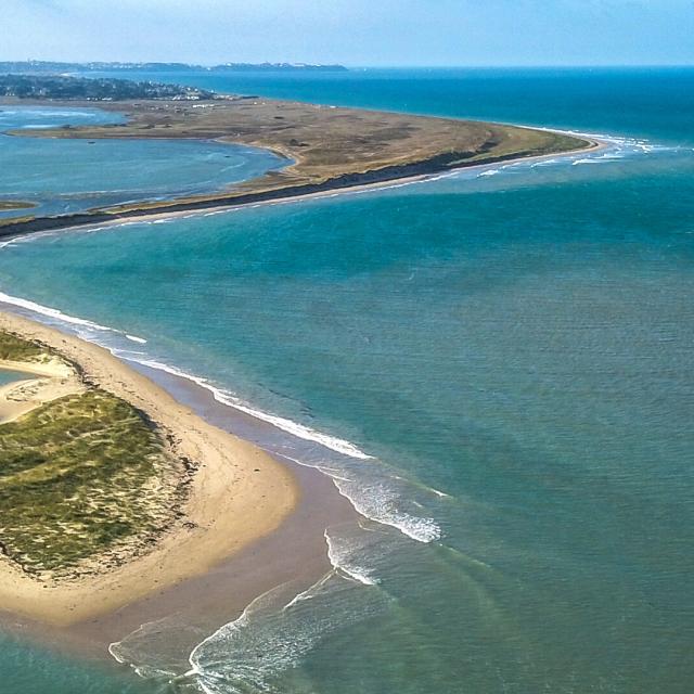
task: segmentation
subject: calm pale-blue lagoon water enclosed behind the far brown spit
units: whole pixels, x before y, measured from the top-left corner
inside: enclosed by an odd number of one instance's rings
[[[0,133],[120,120],[98,110],[5,106],[0,111]],[[200,140],[90,142],[0,134],[2,198],[31,202],[35,215],[222,190],[285,164],[265,150]],[[10,210],[0,218],[26,214]]]

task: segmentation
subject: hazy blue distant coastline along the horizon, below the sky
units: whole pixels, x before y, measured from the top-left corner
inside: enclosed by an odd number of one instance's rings
[[[107,73],[139,70],[145,73],[176,73],[204,70],[208,73],[236,72],[345,72],[344,65],[310,65],[308,63],[224,63],[222,65],[189,65],[188,63],[57,63],[52,61],[0,62],[0,73]]]

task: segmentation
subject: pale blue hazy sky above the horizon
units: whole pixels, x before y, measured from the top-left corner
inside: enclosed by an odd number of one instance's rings
[[[28,59],[692,65],[694,0],[2,0]]]

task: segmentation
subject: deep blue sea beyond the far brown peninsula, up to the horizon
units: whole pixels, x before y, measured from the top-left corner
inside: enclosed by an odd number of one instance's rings
[[[404,69],[347,73],[136,73],[220,92],[316,103],[588,128],[681,143],[692,141],[694,70],[690,68]]]

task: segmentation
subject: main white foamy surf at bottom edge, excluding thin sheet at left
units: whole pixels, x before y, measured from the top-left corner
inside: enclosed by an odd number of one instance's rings
[[[207,694],[310,692],[303,659],[326,635],[388,604],[369,570],[357,524],[325,531],[334,569],[286,602],[287,584],[256,597],[241,616],[192,651],[187,678]]]

